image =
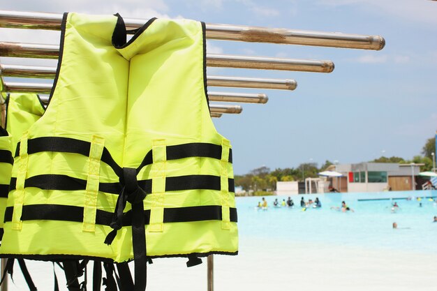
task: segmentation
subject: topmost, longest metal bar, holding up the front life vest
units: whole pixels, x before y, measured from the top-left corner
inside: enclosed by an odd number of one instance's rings
[[[20,29],[60,30],[62,15],[58,13],[34,13],[0,10],[0,27]],[[138,29],[147,20],[124,20],[127,29]],[[206,36],[215,40],[235,40],[255,43],[281,43],[288,45],[312,45],[343,47],[363,50],[382,50],[385,40],[381,36],[274,29],[244,25],[206,24]]]

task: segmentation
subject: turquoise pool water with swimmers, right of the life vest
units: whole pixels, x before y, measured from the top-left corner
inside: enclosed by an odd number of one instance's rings
[[[420,196],[422,191],[407,192]],[[428,193],[429,194],[429,193]],[[335,244],[336,246],[359,246],[373,249],[395,249],[398,251],[419,251],[437,253],[436,202],[422,199],[358,201],[368,194],[323,194],[304,195],[305,200],[319,197],[321,209],[309,208],[302,211],[296,206],[302,195],[292,196],[294,208],[272,207],[275,198],[281,202],[285,196],[266,197],[267,211],[255,207],[261,197],[237,197],[240,246],[250,244],[253,239],[290,241],[302,244]],[[380,193],[378,197],[392,194]],[[436,191],[431,195],[437,197]],[[429,195],[429,196],[431,196]],[[397,196],[402,196],[397,193]],[[348,199],[349,198],[349,199]],[[330,209],[338,207],[345,200],[355,212],[343,213]],[[392,213],[392,202],[399,204],[399,210]],[[392,229],[392,223],[398,229]]]

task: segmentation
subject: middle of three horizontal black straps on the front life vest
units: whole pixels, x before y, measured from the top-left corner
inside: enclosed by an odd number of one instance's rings
[[[140,180],[138,181],[138,185],[145,191],[145,193],[150,194],[151,181],[151,179]],[[17,178],[11,178],[8,191],[15,190],[15,188],[17,187],[16,184]],[[24,181],[24,187],[35,187],[43,190],[78,191],[86,189],[87,180],[73,178],[63,174],[40,174],[38,176],[27,178]],[[165,177],[166,192],[202,189],[220,191],[220,177],[213,175]],[[99,183],[98,191],[110,194],[119,194],[122,191],[122,186],[119,182]],[[234,179],[228,179],[228,191],[232,193],[235,191]],[[7,193],[6,197],[8,197]]]

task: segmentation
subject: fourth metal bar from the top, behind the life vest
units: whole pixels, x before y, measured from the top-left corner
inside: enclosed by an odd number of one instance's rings
[[[4,91],[10,93],[36,93],[50,94],[52,84],[47,83],[21,83],[3,82]],[[239,102],[239,103],[267,103],[269,98],[266,94],[243,94],[243,93],[222,93],[208,92],[210,101]]]

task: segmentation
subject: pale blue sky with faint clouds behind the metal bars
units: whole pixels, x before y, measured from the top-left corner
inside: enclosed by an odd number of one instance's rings
[[[412,158],[437,130],[437,2],[428,0],[126,0],[7,1],[4,10],[119,12],[123,17],[185,17],[245,24],[381,35],[380,51],[209,41],[208,51],[334,61],[332,73],[209,68],[209,75],[291,78],[295,91],[209,88],[266,93],[265,105],[214,119],[233,145],[236,174],[265,165]],[[9,41],[58,43],[59,33],[1,29]],[[2,58],[6,64],[56,62]]]

